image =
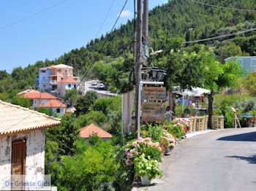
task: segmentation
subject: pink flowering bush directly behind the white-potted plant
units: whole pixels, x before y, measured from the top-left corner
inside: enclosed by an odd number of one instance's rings
[[[140,137],[138,140],[131,141],[127,144],[127,165],[131,165],[135,158],[143,154],[146,157],[157,160],[159,163],[162,162],[162,149],[159,142],[153,143],[150,138],[143,139]]]

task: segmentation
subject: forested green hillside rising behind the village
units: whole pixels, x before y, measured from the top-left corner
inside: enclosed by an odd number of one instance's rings
[[[200,0],[208,4],[237,9],[256,9],[255,0]],[[152,48],[158,50],[158,31],[162,29],[168,36],[181,37],[184,41],[205,39],[220,34],[231,34],[256,27],[256,12],[242,12],[230,9],[219,9],[197,4],[190,0],[171,0],[169,3],[155,7],[149,12],[149,35],[152,39]],[[191,29],[192,28],[192,29]],[[132,42],[134,20],[113,31],[108,42],[99,55],[97,61],[108,63],[123,54],[124,44]],[[75,75],[82,74],[88,69],[91,61],[102,47],[105,36],[100,39],[91,39],[86,47],[71,50],[64,53],[55,61],[38,61],[33,66],[25,69],[15,68],[12,74],[6,71],[0,72],[0,99],[6,100],[15,91],[23,90],[34,85],[34,78],[38,69],[42,66],[64,63],[74,67]],[[240,36],[230,36],[232,41],[225,41],[222,45],[222,60],[230,55],[256,55],[256,32],[251,31]],[[223,39],[223,40],[227,40]],[[202,42],[216,47],[216,55],[219,55],[219,41]],[[197,44],[186,44],[188,52],[195,50]],[[189,46],[189,47],[187,47]],[[127,47],[127,52],[132,52],[132,45]],[[2,63],[4,64],[4,63]],[[18,65],[18,63],[17,63]]]

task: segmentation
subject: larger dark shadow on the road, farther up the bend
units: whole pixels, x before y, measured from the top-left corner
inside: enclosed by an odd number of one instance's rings
[[[223,136],[218,141],[256,141],[256,132],[243,133],[234,136]]]

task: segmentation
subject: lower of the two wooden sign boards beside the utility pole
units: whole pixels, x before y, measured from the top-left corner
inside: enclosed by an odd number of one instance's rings
[[[164,122],[165,102],[143,102],[141,119],[143,121]]]

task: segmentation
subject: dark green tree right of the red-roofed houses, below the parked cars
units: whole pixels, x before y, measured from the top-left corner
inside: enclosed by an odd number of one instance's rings
[[[91,104],[94,103],[95,100],[97,100],[98,95],[94,91],[88,91],[86,92],[86,95],[83,97],[78,98],[78,102],[75,105],[75,114],[78,116],[80,114],[86,114],[89,112]]]

